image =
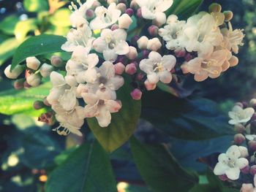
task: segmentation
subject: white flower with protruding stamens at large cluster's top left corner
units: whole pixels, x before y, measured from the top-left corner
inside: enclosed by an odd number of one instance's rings
[[[81,4],[78,0],[78,3],[80,5],[79,9],[73,2],[71,2],[72,6],[69,6],[69,9],[75,9],[75,11],[72,12],[72,14],[70,15],[72,27],[80,28],[84,24],[88,24],[88,21],[86,19],[86,11],[91,8],[92,4],[94,4],[94,1],[95,0],[87,0],[84,4]]]

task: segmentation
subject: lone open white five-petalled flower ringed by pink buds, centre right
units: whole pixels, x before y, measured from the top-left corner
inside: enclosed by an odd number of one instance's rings
[[[151,84],[157,84],[160,80],[169,83],[172,80],[170,70],[176,65],[176,58],[173,55],[164,55],[163,57],[151,51],[148,58],[140,61],[140,69],[147,74],[147,80]]]

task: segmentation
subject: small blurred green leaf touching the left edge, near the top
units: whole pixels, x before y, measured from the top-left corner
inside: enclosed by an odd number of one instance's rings
[[[3,31],[4,34],[14,34],[15,25],[19,20],[18,15],[7,16],[0,22],[0,31]]]

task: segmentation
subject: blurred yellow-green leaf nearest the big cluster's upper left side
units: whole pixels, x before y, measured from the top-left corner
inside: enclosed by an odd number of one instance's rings
[[[70,17],[71,11],[69,9],[59,9],[50,17],[50,23],[53,26],[68,27],[71,26]]]

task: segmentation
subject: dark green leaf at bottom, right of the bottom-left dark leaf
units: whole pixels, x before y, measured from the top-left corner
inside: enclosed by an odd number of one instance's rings
[[[132,137],[130,146],[135,164],[151,191],[187,192],[198,183],[197,176],[183,169],[163,145],[143,145]]]

